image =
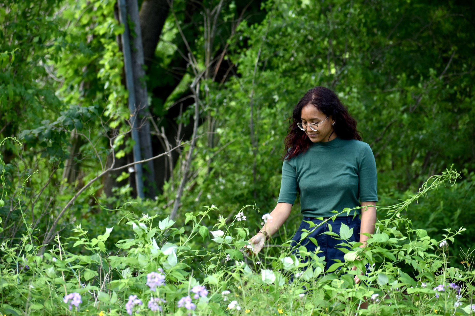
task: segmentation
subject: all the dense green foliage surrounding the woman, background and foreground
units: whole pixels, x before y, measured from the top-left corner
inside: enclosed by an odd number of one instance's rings
[[[155,52],[146,56],[143,80],[154,154],[163,153],[165,141],[182,146],[155,160],[163,188],[147,200],[135,199],[126,166],[133,141],[117,12],[113,0],[0,4],[0,286],[6,304],[0,313],[36,315],[44,307],[64,315],[56,306],[77,289],[83,295],[78,313],[124,314],[128,295],[146,305],[151,292],[144,276],[161,266],[163,307],[177,315],[185,313],[177,301],[198,282],[210,291],[209,302],[198,304],[202,315],[237,313],[226,310],[226,289],[239,295],[239,313],[257,315],[259,302],[275,308],[272,314],[350,315],[375,293],[390,298],[371,307],[374,314],[470,314],[470,308],[454,309],[458,300],[449,290],[435,300],[432,288],[464,284],[461,307],[475,304],[467,265],[475,247],[472,3],[173,1]],[[266,248],[261,269],[239,249],[275,206],[286,119],[316,85],[338,93],[371,145],[379,205],[406,201],[451,165],[462,172],[455,185],[441,185],[409,208],[380,208],[381,235],[361,254],[362,262],[377,264],[368,277],[378,283],[375,289],[328,274],[302,281],[321,296],[297,298],[303,284],[286,282],[296,269],[286,266],[288,253]],[[115,170],[105,172],[113,162]],[[449,174],[445,180],[454,177]],[[170,227],[181,228],[156,226],[152,219],[166,221],[174,203]],[[209,205],[217,207],[203,208]],[[253,205],[245,225],[233,221],[243,205]],[[275,245],[285,246],[300,220],[297,199]],[[231,228],[232,242],[208,239],[208,231],[223,227]],[[460,227],[466,230],[454,237]],[[441,239],[451,241],[449,248],[438,249]],[[164,251],[166,243],[171,248]],[[179,264],[172,264],[171,253]],[[318,271],[320,262],[313,265]],[[276,280],[261,278],[265,269]],[[395,307],[401,299],[402,307]]]

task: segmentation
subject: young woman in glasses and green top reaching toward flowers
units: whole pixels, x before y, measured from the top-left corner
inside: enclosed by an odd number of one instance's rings
[[[361,142],[356,130],[356,121],[350,116],[336,94],[324,87],[315,87],[305,93],[294,108],[290,127],[285,137],[285,156],[282,166],[282,182],[276,208],[261,230],[249,242],[258,253],[266,239],[276,233],[290,214],[297,192],[300,195],[300,211],[303,221],[292,238],[294,245],[304,245],[315,251],[316,245],[308,237],[314,237],[325,256],[328,269],[335,259],[343,262],[344,253],[336,249],[341,240],[323,234],[329,230],[339,234],[341,224],[353,228],[350,241],[366,245],[367,235],[374,232],[376,223],[377,176],[374,155],[368,144]],[[316,225],[341,212],[344,208],[366,206],[347,216],[344,212],[334,221],[320,225],[302,241],[302,229],[312,231],[309,224]],[[361,219],[360,219],[361,215]],[[353,266],[353,270],[356,267]],[[358,276],[355,282],[359,282]]]

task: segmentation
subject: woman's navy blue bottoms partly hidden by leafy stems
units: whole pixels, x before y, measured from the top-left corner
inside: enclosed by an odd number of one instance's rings
[[[326,218],[324,218],[323,221],[325,219]],[[304,221],[311,221],[318,227],[314,226],[310,228],[310,224]],[[309,237],[315,238],[321,251],[321,253],[318,253],[317,255],[319,257],[325,257],[325,262],[326,262],[325,270],[328,270],[328,268],[330,268],[330,266],[333,263],[338,262],[338,261],[335,261],[335,259],[340,260],[341,262],[344,262],[343,256],[345,255],[345,253],[343,253],[340,249],[337,249],[337,248],[343,248],[341,245],[337,246],[338,244],[349,243],[351,241],[354,241],[354,242],[360,241],[361,219],[359,216],[356,216],[354,218],[352,216],[349,216],[349,217],[336,217],[334,221],[329,219],[326,223],[322,224],[323,221],[320,219],[316,219],[314,217],[304,217],[304,220],[302,221],[302,223],[300,223],[300,226],[298,227],[297,232],[295,233],[294,237],[292,237],[291,247],[297,246],[298,248],[299,246],[305,246],[307,251],[315,252],[315,250],[317,249],[317,245],[315,245],[312,241],[310,241]],[[349,226],[350,230],[353,228],[353,235],[350,237],[349,240],[347,241],[339,240],[339,239],[333,238],[333,236],[331,235],[323,234],[324,232],[329,231],[328,224],[330,224],[332,226],[332,232],[340,235],[340,227],[342,226],[342,223]],[[300,244],[297,245],[298,242],[300,241],[300,236],[303,233],[302,229],[307,229],[308,231],[313,230],[313,232],[307,235],[300,242]],[[349,249],[348,247],[346,248]],[[297,254],[296,249],[294,250],[293,253]],[[304,258],[305,262],[307,258]]]

